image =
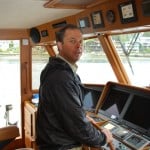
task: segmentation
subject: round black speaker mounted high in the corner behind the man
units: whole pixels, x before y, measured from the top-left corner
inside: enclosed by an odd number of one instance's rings
[[[40,32],[35,27],[30,29],[30,37],[34,43],[39,43],[41,40]]]

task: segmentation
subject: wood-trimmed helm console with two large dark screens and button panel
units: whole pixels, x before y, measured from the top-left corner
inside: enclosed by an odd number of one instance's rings
[[[112,132],[116,150],[143,150],[150,145],[149,108],[150,90],[108,82],[90,117]]]

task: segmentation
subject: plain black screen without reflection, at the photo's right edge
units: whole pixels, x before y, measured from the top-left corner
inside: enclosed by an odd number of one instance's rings
[[[150,131],[150,96],[134,95],[123,117],[136,130],[138,127]],[[139,130],[140,130],[139,128]]]

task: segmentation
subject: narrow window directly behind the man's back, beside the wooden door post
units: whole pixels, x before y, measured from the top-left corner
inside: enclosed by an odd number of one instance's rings
[[[32,48],[32,89],[39,89],[40,74],[49,59],[49,54],[44,46]]]

